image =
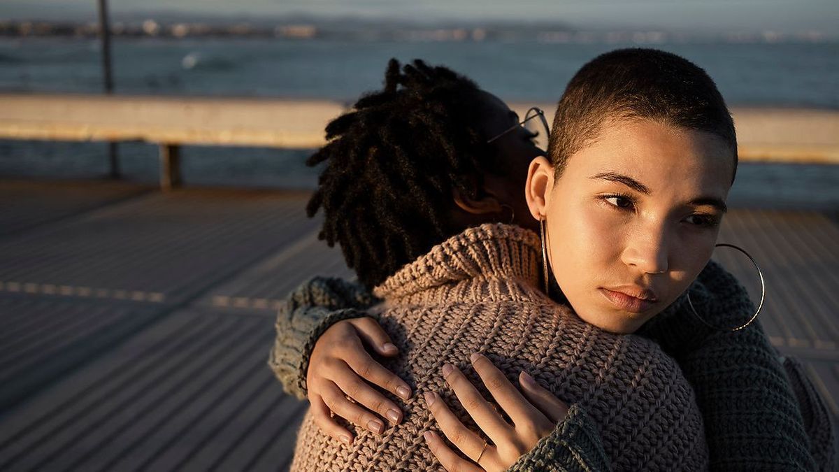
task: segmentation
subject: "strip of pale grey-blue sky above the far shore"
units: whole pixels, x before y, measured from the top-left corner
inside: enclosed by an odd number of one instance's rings
[[[109,0],[112,18],[320,18],[557,21],[578,28],[690,31],[839,31],[837,0]],[[3,19],[96,18],[96,0],[0,0]]]

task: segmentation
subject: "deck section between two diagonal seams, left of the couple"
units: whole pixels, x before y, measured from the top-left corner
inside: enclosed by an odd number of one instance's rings
[[[293,242],[314,224],[295,219],[304,198],[190,189],[136,197],[0,239],[0,296],[7,296],[0,332],[15,336],[0,348],[0,412],[179,301]],[[30,295],[44,302],[32,309],[29,302],[8,305]]]

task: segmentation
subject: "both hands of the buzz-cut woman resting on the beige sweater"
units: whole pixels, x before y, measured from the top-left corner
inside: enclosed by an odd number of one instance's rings
[[[345,444],[352,443],[352,433],[341,427],[331,412],[381,434],[385,421],[392,424],[402,421],[402,411],[373,385],[404,400],[411,395],[409,385],[373,359],[365,346],[387,357],[399,353],[388,334],[373,318],[347,319],[335,323],[318,338],[306,373],[315,422],[324,433]],[[492,445],[487,444],[483,448],[484,443],[478,434],[466,428],[433,392],[426,392],[425,400],[440,431],[474,462],[454,454],[436,433],[426,433],[425,440],[446,469],[507,469],[532,449],[539,439],[548,436],[565,417],[568,408],[524,372],[519,376],[522,386],[519,392],[486,357],[475,354],[472,364],[498,404],[498,410],[482,398],[460,370],[446,365],[442,374]],[[499,411],[506,413],[513,424],[505,422]]]

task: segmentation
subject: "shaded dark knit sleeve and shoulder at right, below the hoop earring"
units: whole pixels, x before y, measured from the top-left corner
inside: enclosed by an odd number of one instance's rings
[[[732,320],[755,310],[743,286],[713,261],[691,286],[690,299],[696,312],[715,326],[731,326]],[[826,431],[808,435],[798,392],[760,323],[735,332],[718,331],[689,310],[681,303],[648,323],[644,335],[675,357],[694,387],[711,469],[817,469],[820,464],[812,451],[831,451],[830,423]],[[805,377],[796,380],[809,385]],[[815,390],[798,390],[809,396],[811,405],[821,405]],[[822,427],[824,422],[816,428]],[[811,439],[818,443],[811,444]]]

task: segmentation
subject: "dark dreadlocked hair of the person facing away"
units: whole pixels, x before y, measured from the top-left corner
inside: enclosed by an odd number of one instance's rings
[[[306,213],[323,210],[319,238],[341,245],[365,286],[462,231],[452,189],[478,197],[497,161],[478,128],[481,93],[446,67],[392,59],[383,90],[326,126],[328,143],[306,160],[326,162]]]

